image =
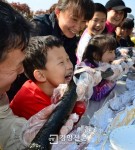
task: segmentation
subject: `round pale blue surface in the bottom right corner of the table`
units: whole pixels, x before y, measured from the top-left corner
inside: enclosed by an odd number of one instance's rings
[[[135,150],[135,125],[115,128],[109,140],[114,150]]]

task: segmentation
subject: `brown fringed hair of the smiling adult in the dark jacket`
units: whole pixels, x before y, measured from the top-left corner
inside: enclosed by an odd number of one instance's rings
[[[82,16],[85,20],[90,20],[94,14],[94,3],[92,0],[59,0],[56,8],[61,11],[73,10],[77,17]]]

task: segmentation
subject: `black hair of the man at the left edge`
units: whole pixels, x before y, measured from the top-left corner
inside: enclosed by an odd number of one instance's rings
[[[0,62],[16,48],[22,50],[28,44],[30,24],[8,3],[0,1]]]

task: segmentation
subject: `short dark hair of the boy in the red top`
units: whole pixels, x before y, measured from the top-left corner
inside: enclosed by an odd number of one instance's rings
[[[61,46],[63,43],[52,35],[32,37],[26,48],[26,57],[23,62],[26,76],[32,81],[36,81],[33,75],[34,70],[46,69],[48,50]]]

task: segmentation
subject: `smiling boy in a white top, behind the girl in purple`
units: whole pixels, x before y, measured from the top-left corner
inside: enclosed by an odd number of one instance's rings
[[[107,18],[106,8],[100,4],[95,3],[94,16],[91,20],[86,22],[87,28],[83,32],[77,48],[77,63],[82,60],[83,52],[89,42],[89,40],[97,34],[101,34],[105,29],[105,22]]]

